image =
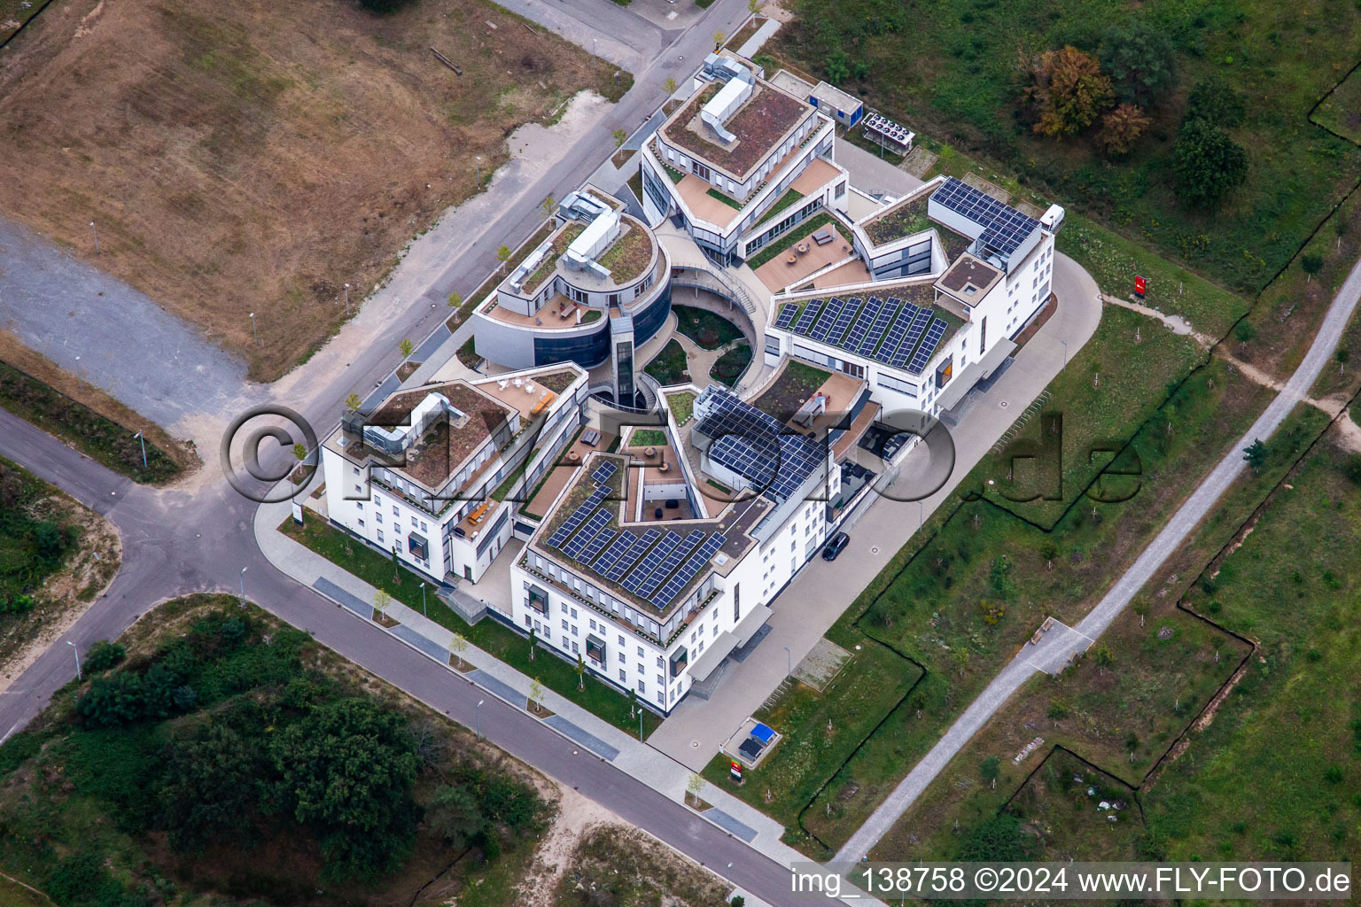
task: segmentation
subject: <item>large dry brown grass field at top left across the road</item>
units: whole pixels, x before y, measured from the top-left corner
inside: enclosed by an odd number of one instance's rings
[[[0,58],[0,211],[91,261],[95,220],[98,267],[268,379],[588,87],[622,88],[483,0],[57,0]]]

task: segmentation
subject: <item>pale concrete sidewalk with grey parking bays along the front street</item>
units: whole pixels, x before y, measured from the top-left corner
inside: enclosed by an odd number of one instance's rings
[[[338,608],[346,608],[365,619],[372,619],[377,589],[279,532],[278,528],[289,518],[289,511],[287,502],[264,504],[256,511],[255,534],[264,556],[297,582],[335,601]],[[320,519],[320,515],[309,511],[308,518]],[[397,601],[393,601],[385,613],[399,624],[389,628],[389,634],[433,661],[449,665],[449,643],[453,639],[453,631]],[[483,620],[494,619],[485,617]],[[540,657],[554,658],[555,655],[544,649]],[[527,707],[529,677],[471,643],[461,658],[474,669],[460,674],[449,666],[450,683],[472,683],[485,689],[489,696],[495,696],[516,708],[525,710],[529,715],[535,714]],[[543,707],[553,713],[551,717],[542,719],[544,725],[666,797],[685,802],[686,785],[693,772],[683,764],[649,744],[640,742],[637,737],[623,733],[551,689],[543,691]],[[713,751],[709,751],[705,755],[705,761],[712,755]],[[700,797],[713,804],[713,809],[695,813],[697,816],[708,819],[781,865],[807,862],[807,857],[780,842],[784,827],[776,820],[708,782],[705,782]]]

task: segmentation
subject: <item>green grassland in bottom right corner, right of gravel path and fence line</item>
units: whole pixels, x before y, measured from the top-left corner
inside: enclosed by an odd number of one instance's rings
[[[1260,646],[1145,797],[1166,859],[1350,859],[1361,847],[1361,464],[1315,447],[1187,605]]]

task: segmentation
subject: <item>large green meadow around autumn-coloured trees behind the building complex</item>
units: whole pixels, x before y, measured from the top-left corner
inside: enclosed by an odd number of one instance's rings
[[[1361,173],[1361,150],[1309,121],[1315,103],[1356,63],[1361,10],[1354,4],[946,0],[930,15],[916,15],[891,0],[832,7],[798,0],[792,10],[796,22],[780,29],[768,52],[818,78],[863,64],[866,76],[844,79],[844,90],[987,160],[984,177],[1023,174],[1029,189],[1070,212],[1096,216],[1237,290],[1260,291]],[[1175,68],[1170,90],[1153,99],[1153,122],[1132,151],[1100,154],[1096,128],[1066,140],[1034,133],[1019,97],[1018,46],[1038,53],[1075,45],[1109,58],[1102,50],[1106,30],[1131,24],[1170,41]],[[1206,212],[1184,204],[1170,159],[1187,95],[1210,76],[1247,99],[1247,117],[1230,135],[1247,150],[1248,175],[1218,209]],[[1358,91],[1345,86],[1320,110],[1322,120],[1354,135],[1350,98]]]

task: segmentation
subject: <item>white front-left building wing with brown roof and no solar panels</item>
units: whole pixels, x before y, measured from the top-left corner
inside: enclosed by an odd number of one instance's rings
[[[399,390],[347,413],[321,446],[327,515],[437,583],[476,582],[513,534],[509,484],[550,468],[585,396],[587,373],[563,363]]]

